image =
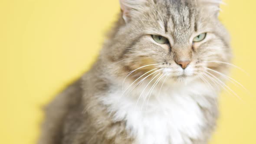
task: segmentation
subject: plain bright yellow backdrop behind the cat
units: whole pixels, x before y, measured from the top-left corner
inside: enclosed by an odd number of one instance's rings
[[[228,83],[242,100],[223,92],[211,144],[256,144],[256,1],[226,0],[220,20],[232,35]],[[35,144],[41,108],[89,69],[118,0],[0,0],[0,144]]]

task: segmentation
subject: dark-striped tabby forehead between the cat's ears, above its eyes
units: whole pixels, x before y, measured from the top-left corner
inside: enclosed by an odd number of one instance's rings
[[[174,38],[188,39],[197,30],[197,11],[191,0],[159,0],[149,13],[158,22],[157,29]]]

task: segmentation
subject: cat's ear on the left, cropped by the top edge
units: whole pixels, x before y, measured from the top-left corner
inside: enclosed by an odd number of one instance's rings
[[[147,0],[119,0],[122,11],[122,17],[127,23],[131,20],[132,16],[141,11],[141,6],[147,2]]]

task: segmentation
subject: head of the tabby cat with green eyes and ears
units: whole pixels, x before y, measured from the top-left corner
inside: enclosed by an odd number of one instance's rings
[[[118,26],[102,51],[113,63],[113,73],[124,78],[132,72],[127,77],[132,81],[150,75],[147,80],[168,76],[185,82],[227,70],[231,50],[229,34],[218,20],[221,0],[120,3]]]

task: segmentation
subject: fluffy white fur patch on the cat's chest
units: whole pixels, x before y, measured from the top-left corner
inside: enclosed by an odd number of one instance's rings
[[[196,87],[200,87],[200,92]],[[190,139],[202,135],[201,128],[206,121],[200,106],[210,107],[204,98],[209,90],[204,85],[169,89],[146,102],[121,93],[111,92],[104,103],[109,105],[109,111],[115,111],[115,121],[126,121],[135,144],[192,144]]]

